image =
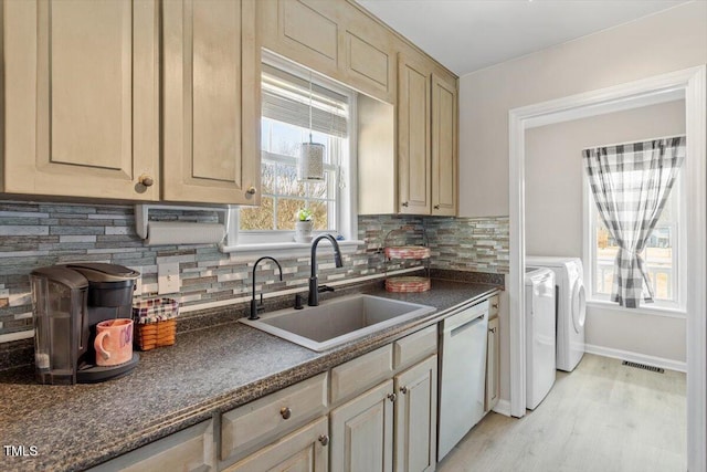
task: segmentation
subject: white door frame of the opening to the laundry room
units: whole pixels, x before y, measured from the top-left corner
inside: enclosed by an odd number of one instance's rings
[[[701,65],[508,112],[510,207],[510,415],[526,412],[525,132],[552,123],[645,106],[684,93],[687,159],[687,465],[707,470],[707,67]]]

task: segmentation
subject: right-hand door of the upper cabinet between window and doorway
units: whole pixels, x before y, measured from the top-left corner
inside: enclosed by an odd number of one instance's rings
[[[432,214],[457,211],[457,92],[456,83],[432,75]]]

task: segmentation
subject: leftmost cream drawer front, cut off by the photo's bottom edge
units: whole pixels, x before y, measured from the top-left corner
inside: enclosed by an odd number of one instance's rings
[[[213,421],[204,421],[155,441],[125,455],[113,459],[91,472],[103,471],[211,471],[213,454]]]

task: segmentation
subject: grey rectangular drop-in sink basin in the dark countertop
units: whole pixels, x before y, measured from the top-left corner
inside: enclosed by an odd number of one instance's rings
[[[348,295],[304,310],[281,310],[260,319],[239,319],[283,339],[321,352],[436,308],[372,295]]]

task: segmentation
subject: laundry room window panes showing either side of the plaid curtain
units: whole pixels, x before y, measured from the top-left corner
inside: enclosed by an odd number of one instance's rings
[[[686,195],[678,174],[667,197],[657,224],[640,253],[653,292],[653,303],[641,305],[640,311],[684,312],[686,301],[686,245],[685,221]],[[584,179],[584,254],[588,271],[590,301],[610,303],[614,260],[619,251],[604,225],[593,200],[590,186]],[[616,306],[613,305],[612,306]]]

